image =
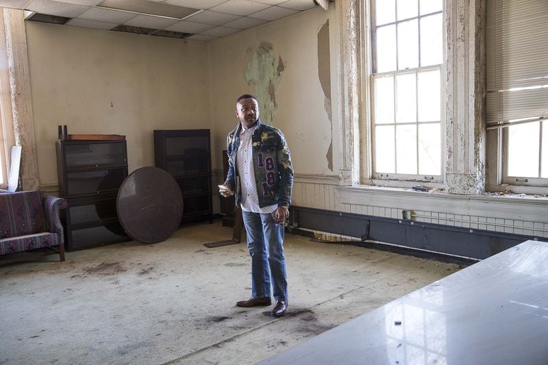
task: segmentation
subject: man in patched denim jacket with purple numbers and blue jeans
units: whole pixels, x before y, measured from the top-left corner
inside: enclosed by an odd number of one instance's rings
[[[284,223],[293,186],[289,148],[279,129],[261,123],[253,95],[236,100],[236,116],[238,125],[227,136],[227,179],[219,188],[223,197],[236,192],[251,255],[251,297],[236,305],[271,305],[272,287],[271,314],[283,316],[288,306]]]

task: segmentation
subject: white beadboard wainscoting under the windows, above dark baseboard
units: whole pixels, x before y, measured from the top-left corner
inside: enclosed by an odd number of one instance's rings
[[[548,199],[338,186],[338,177],[295,175],[292,205],[548,238]],[[409,216],[409,215],[408,215]]]

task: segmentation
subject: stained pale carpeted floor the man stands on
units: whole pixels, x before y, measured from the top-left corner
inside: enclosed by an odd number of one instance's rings
[[[456,272],[444,264],[286,234],[289,308],[240,308],[246,245],[186,225],[158,244],[125,242],[36,262],[0,262],[0,364],[254,364]]]

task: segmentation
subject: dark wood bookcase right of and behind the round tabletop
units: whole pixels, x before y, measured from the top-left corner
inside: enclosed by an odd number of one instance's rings
[[[209,129],[154,131],[155,166],[170,173],[183,194],[182,223],[212,220]]]

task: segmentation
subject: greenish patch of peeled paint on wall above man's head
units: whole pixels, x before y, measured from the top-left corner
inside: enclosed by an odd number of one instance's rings
[[[271,43],[261,42],[259,47],[249,47],[247,54],[249,60],[245,66],[245,81],[248,86],[255,88],[254,95],[259,99],[261,121],[273,125],[278,110],[276,91],[286,66],[281,55],[274,55],[274,46]]]

